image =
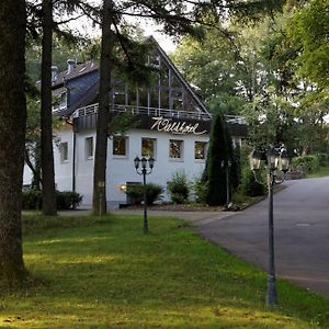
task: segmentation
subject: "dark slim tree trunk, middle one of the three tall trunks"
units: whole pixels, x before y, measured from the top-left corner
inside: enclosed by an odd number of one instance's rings
[[[52,110],[52,46],[53,46],[53,1],[43,0],[43,54],[42,54],[42,105],[41,149],[43,181],[43,214],[56,215],[55,171],[53,152]]]

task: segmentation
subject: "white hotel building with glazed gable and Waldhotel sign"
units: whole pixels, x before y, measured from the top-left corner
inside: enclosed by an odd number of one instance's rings
[[[147,182],[162,185],[177,171],[189,179],[200,175],[205,164],[212,115],[194,90],[155,43],[149,63],[156,66],[156,86],[132,90],[115,80],[111,92],[111,115],[129,112],[136,125],[125,136],[110,136],[106,163],[106,198],[110,207],[126,203],[125,185],[141,182],[136,173],[136,156],[152,156],[154,172]],[[54,114],[63,117],[54,143],[55,182],[59,191],[77,191],[82,205],[92,203],[93,156],[98,113],[99,70],[93,63],[76,65],[68,60],[68,69],[53,71],[53,90],[58,98]],[[227,117],[235,144],[246,136],[240,117]],[[24,184],[31,182],[25,170]],[[168,195],[164,195],[164,200]]]

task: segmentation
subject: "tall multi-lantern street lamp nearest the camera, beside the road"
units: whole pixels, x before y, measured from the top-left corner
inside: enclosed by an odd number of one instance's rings
[[[251,170],[260,168],[261,154],[257,150],[250,156]],[[290,159],[285,148],[270,147],[266,152],[268,189],[269,189],[269,271],[266,304],[275,306],[277,304],[276,282],[275,282],[275,261],[274,261],[274,223],[273,223],[273,185],[282,183],[283,179],[277,180],[276,169],[285,173],[288,170]],[[283,177],[284,178],[284,177]]]

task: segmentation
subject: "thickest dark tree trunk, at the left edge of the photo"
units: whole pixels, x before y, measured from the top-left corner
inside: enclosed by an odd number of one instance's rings
[[[0,287],[26,277],[22,257],[22,182],[26,125],[25,1],[0,5]]]

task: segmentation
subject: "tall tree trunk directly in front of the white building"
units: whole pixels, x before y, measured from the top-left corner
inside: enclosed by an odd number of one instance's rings
[[[102,48],[100,69],[99,113],[97,126],[97,145],[93,169],[93,201],[94,214],[106,213],[106,159],[107,159],[107,129],[110,122],[110,90],[111,64],[113,49],[112,25],[113,2],[103,0],[102,12]]]

